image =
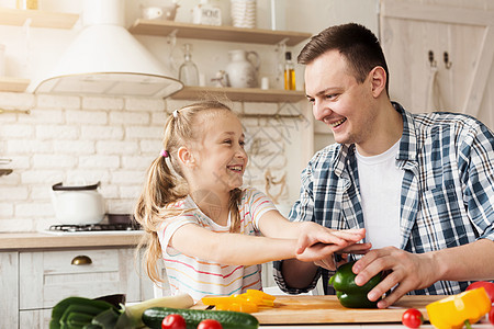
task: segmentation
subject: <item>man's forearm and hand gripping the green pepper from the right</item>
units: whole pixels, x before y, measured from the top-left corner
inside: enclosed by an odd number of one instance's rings
[[[356,262],[352,270],[358,274],[356,283],[363,285],[381,271],[391,271],[385,279],[369,292],[368,298],[377,300],[397,285],[378,303],[385,308],[406,293],[430,286],[437,281],[474,281],[494,279],[494,241],[478,241],[425,253],[409,253],[386,247],[369,251]]]

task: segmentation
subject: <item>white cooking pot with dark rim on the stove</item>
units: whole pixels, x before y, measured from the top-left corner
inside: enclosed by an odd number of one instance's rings
[[[100,182],[93,185],[52,186],[52,204],[55,217],[63,225],[98,224],[104,218],[103,196],[97,191]]]

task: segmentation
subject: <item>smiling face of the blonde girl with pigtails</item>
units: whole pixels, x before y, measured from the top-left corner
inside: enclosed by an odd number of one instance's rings
[[[240,121],[229,111],[217,110],[201,115],[198,123],[202,138],[193,151],[193,189],[224,193],[242,186],[248,158]]]

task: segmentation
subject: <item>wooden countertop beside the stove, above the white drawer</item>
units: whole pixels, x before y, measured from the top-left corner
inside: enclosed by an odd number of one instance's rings
[[[133,247],[137,246],[142,231],[98,232],[0,232],[0,251],[32,249]]]

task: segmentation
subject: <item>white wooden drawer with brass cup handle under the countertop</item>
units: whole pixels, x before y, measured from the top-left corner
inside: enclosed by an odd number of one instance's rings
[[[20,309],[49,308],[68,296],[126,294],[127,302],[141,300],[138,269],[134,248],[21,252]]]

